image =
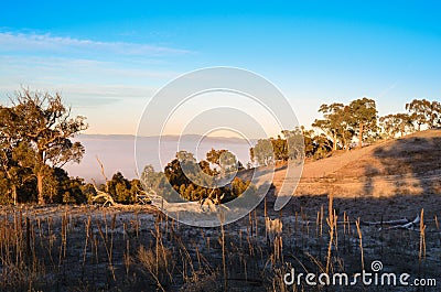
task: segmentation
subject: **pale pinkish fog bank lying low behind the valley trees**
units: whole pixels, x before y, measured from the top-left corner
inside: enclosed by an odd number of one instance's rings
[[[71,176],[80,176],[89,182],[92,179],[103,182],[100,166],[97,156],[104,164],[105,173],[108,179],[116,172],[121,172],[127,179],[137,177],[137,164],[135,158],[135,136],[101,136],[101,134],[80,134],[74,139],[80,141],[86,149],[86,153],[79,164],[66,164],[64,169]],[[205,159],[205,153],[212,148],[228,149],[246,165],[249,162],[249,143],[238,138],[206,137],[201,140],[198,136],[168,136],[161,139],[161,163],[158,161],[158,138],[140,138],[142,153],[138,164],[142,169],[147,164],[152,164],[154,170],[161,170],[161,164],[165,165],[174,159],[178,150],[186,150],[195,154],[201,160]],[[255,141],[250,141],[254,145]],[[198,147],[197,147],[198,145]],[[195,151],[197,150],[197,151]]]

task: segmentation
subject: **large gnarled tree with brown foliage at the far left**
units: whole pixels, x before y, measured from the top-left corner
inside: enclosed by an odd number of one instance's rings
[[[2,177],[14,202],[17,188],[35,180],[37,203],[44,204],[45,194],[54,193],[47,183],[54,170],[83,158],[84,147],[72,138],[87,123],[82,116],[72,117],[57,93],[21,89],[10,101],[10,107],[0,107]]]

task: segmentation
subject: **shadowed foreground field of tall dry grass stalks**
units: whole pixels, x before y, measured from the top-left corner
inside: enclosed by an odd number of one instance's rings
[[[359,272],[378,259],[390,271],[438,277],[439,225],[426,210],[415,231],[378,231],[338,212],[340,199],[324,202],[327,212],[291,205],[267,217],[259,206],[252,220],[219,228],[178,226],[149,209],[2,208],[0,290],[316,291],[287,286],[282,275]],[[257,228],[268,221],[280,228]]]

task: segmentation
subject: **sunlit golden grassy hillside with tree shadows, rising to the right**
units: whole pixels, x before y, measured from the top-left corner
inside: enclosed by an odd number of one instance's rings
[[[441,130],[427,130],[305,163],[295,195],[441,194]],[[276,173],[280,187],[284,170]]]

